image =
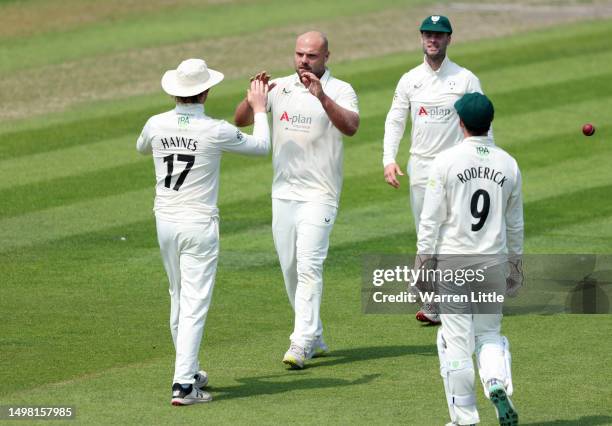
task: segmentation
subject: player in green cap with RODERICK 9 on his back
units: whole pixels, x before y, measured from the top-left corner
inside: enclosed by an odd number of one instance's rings
[[[469,256],[468,264],[481,267],[482,286],[494,294],[513,295],[522,285],[521,173],[516,160],[488,135],[494,110],[486,96],[464,95],[454,107],[465,139],[438,154],[431,164],[418,257],[437,253],[437,267],[444,270],[441,263],[461,262],[462,256]],[[474,256],[479,260],[475,262]],[[473,306],[475,311],[449,314],[442,307],[437,345],[449,425],[479,422],[474,352],[485,395],[495,405],[500,425],[516,425],[518,414],[509,399],[513,391],[510,345],[501,335],[501,305],[489,313],[484,303]]]

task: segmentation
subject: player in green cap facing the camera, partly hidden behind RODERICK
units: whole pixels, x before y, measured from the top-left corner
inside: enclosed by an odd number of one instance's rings
[[[410,113],[412,132],[407,169],[416,232],[433,159],[463,139],[453,104],[466,93],[482,93],[478,78],[446,56],[453,32],[448,18],[428,16],[420,30],[425,58],[421,65],[404,74],[397,84],[385,121],[383,155],[385,181],[399,188],[397,176],[404,174],[395,157]],[[416,318],[422,322],[440,323],[435,305],[423,305]]]

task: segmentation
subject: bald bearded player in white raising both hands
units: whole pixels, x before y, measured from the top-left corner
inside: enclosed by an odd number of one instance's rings
[[[295,312],[291,345],[283,362],[291,368],[323,355],[320,318],[323,262],[327,257],[342,188],[342,136],[359,126],[357,95],[326,68],[328,41],[310,31],[297,38],[295,74],[270,82],[272,117],[272,232],[285,289]],[[268,83],[268,75],[255,79]],[[238,126],[250,124],[252,107],[236,108]]]

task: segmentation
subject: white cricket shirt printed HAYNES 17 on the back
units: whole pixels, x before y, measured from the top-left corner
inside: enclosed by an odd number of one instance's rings
[[[219,215],[219,172],[223,151],[265,155],[270,130],[265,113],[255,114],[253,136],[204,114],[202,104],[178,104],[147,121],[136,142],[153,154],[155,216],[169,222],[207,222]]]

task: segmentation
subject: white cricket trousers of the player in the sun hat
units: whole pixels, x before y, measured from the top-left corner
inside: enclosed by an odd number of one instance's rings
[[[170,332],[176,350],[173,383],[193,384],[217,272],[219,222],[217,218],[207,223],[156,222],[170,283]]]

